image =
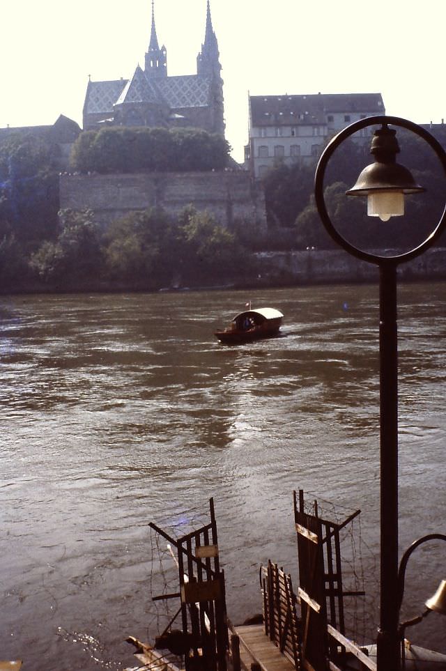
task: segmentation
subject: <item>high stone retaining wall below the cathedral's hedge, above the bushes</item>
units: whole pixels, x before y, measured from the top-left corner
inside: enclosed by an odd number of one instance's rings
[[[256,223],[266,231],[263,190],[247,171],[206,173],[133,173],[118,175],[63,174],[61,208],[93,210],[95,221],[107,226],[130,211],[160,207],[173,215],[187,205],[208,210],[218,222]]]

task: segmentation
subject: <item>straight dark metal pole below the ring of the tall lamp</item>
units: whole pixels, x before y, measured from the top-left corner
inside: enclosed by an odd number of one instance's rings
[[[380,626],[378,671],[398,671],[397,264],[380,264]]]

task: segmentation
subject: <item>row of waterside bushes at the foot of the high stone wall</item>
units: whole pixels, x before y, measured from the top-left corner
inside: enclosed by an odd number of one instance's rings
[[[13,251],[0,245],[3,289],[202,286],[213,283],[216,268],[224,269],[225,284],[254,265],[236,231],[192,206],[177,217],[157,208],[129,213],[106,229],[95,224],[91,210],[61,210],[56,236],[16,256],[16,263],[10,263]]]

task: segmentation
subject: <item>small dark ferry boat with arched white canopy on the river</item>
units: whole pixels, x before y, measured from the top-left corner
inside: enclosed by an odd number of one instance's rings
[[[283,314],[273,307],[249,309],[236,315],[224,330],[215,331],[215,336],[226,345],[273,338],[279,334]]]

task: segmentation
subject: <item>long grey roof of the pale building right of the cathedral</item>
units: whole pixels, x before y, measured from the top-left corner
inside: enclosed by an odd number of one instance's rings
[[[312,93],[309,95],[250,95],[252,125],[326,123],[327,114],[383,114],[380,93]]]

